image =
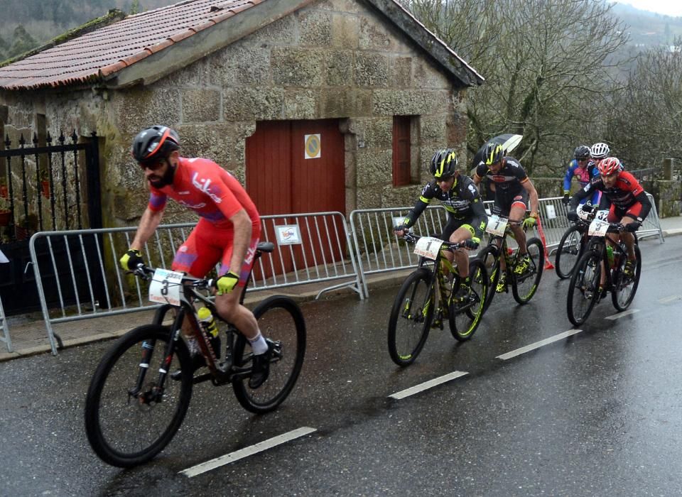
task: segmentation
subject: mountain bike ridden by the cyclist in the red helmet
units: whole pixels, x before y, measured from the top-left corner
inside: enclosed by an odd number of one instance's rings
[[[575,326],[583,324],[606,293],[611,293],[611,300],[616,310],[624,311],[634,299],[639,285],[639,276],[642,273],[642,253],[639,251],[637,236],[635,236],[634,253],[637,263],[634,273],[628,277],[624,273],[627,262],[625,244],[619,241],[617,244],[607,244],[607,233],[622,233],[626,231],[619,223],[610,223],[602,219],[595,219],[594,215],[588,214],[588,218],[579,221],[587,228],[590,239],[585,253],[575,265],[573,275],[568,285],[568,299],[566,310],[568,319]],[[612,247],[613,261],[607,252],[607,246]],[[604,261],[609,263],[604,265]],[[602,271],[606,269],[606,280],[603,291],[599,291]]]

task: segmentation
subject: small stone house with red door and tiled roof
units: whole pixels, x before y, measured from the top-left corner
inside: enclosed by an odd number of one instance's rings
[[[0,67],[0,132],[97,133],[104,226],[146,205],[129,146],[153,124],[262,214],[348,214],[411,204],[435,149],[465,154],[482,82],[394,0],[185,0]]]

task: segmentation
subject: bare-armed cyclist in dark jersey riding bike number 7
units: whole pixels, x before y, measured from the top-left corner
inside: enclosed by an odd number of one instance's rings
[[[514,233],[516,243],[519,244],[521,255],[514,273],[524,274],[528,271],[531,261],[526,248],[526,233],[522,226],[532,227],[536,224],[538,192],[519,161],[505,156],[504,152],[504,148],[499,143],[488,142],[484,149],[483,160],[477,165],[473,180],[476,185],[479,185],[483,178],[486,178],[494,187],[495,200],[492,213],[509,217],[511,231]],[[530,209],[531,213],[524,219],[526,209]],[[507,290],[504,257],[500,258],[500,266],[502,271],[495,289],[497,293]]]

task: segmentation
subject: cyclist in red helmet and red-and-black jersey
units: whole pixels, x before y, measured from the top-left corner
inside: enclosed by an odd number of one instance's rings
[[[610,223],[619,222],[627,231],[621,234],[622,240],[627,248],[627,262],[623,272],[627,276],[632,276],[637,262],[634,253],[634,236],[632,232],[637,231],[639,226],[651,210],[651,202],[646,196],[644,188],[639,184],[637,178],[631,173],[623,170],[620,160],[615,157],[602,158],[597,165],[599,176],[592,178],[592,181],[585,187],[576,192],[570,200],[570,206],[566,217],[572,221],[578,219],[578,202],[588,197],[593,191],[599,190],[610,200],[611,207],[607,221]],[[632,232],[631,232],[632,231]],[[618,234],[609,233],[607,237],[614,243],[618,241]],[[605,272],[602,271],[603,286]]]

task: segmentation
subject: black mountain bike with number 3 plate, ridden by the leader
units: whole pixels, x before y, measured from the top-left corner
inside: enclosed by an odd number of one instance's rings
[[[260,243],[256,258],[273,249],[271,242]],[[150,282],[150,300],[166,303],[158,307],[152,324],[117,340],[92,376],[85,400],[85,432],[100,459],[130,467],[155,457],[180,428],[195,383],[231,383],[237,400],[251,413],[268,413],[291,393],[305,355],[305,320],[291,298],[274,295],[254,308],[271,359],[267,380],[252,390],[249,342],[218,315],[210,300],[212,280],[143,265],[134,274]],[[240,303],[247,286],[248,280]],[[219,326],[224,329],[222,350],[213,349],[211,335],[199,324],[195,302],[207,307],[216,322],[224,323]],[[163,324],[169,313],[172,324]],[[190,356],[182,332],[185,319],[208,366],[206,373],[196,376],[196,358]]]

